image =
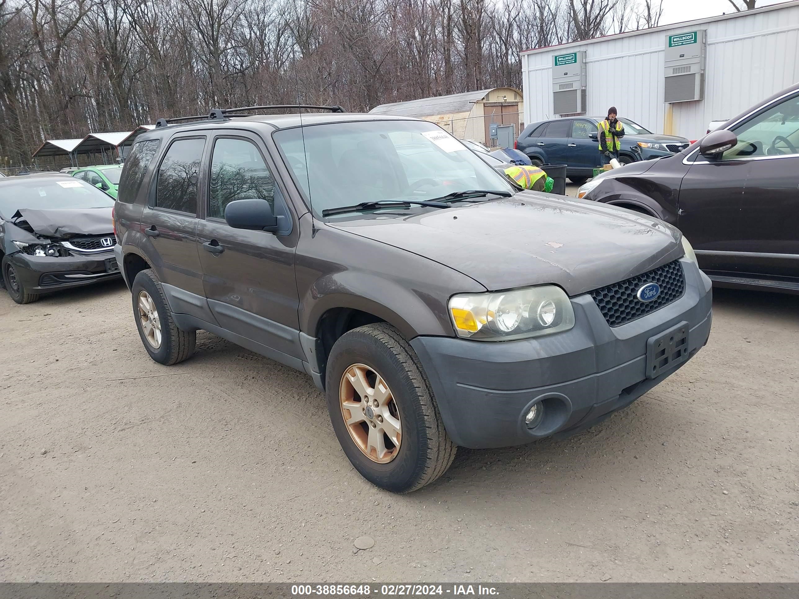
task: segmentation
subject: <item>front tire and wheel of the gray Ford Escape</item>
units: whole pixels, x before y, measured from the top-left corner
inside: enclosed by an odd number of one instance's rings
[[[421,489],[455,458],[419,358],[394,327],[369,324],[342,335],[330,352],[326,389],[336,437],[373,485]]]

